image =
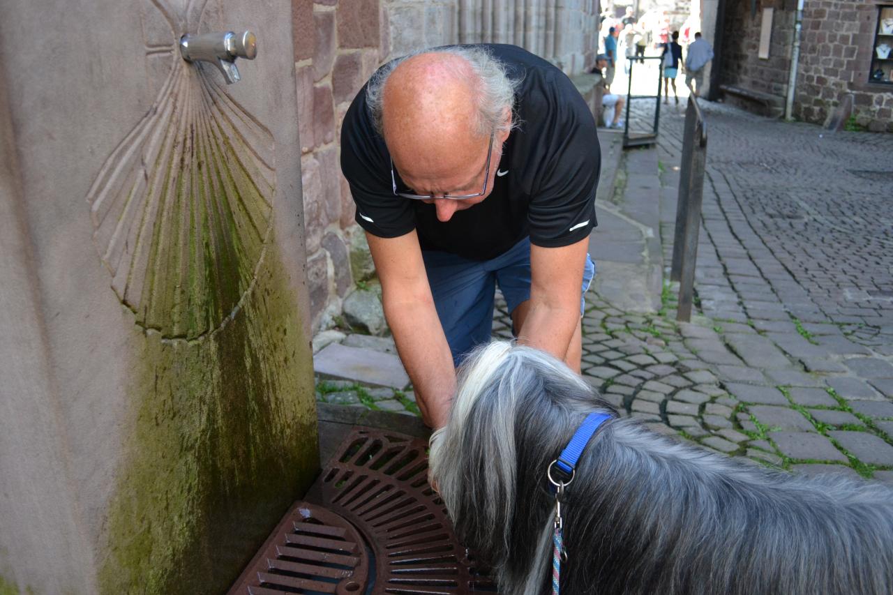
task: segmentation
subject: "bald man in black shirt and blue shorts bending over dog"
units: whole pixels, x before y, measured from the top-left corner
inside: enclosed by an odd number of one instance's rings
[[[580,371],[599,167],[580,93],[520,47],[411,54],[356,96],[341,168],[425,423],[447,423],[455,366],[490,338],[497,283],[518,340]]]

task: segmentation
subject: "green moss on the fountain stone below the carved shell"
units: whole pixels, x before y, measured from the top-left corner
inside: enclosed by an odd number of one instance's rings
[[[104,527],[102,593],[226,591],[313,481],[313,358],[275,246],[221,329],[135,341],[134,419]]]

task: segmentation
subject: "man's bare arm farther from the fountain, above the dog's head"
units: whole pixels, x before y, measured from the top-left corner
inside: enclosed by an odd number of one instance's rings
[[[518,342],[566,360],[580,323],[588,238],[564,247],[530,246],[530,304]],[[572,368],[579,368],[568,362]]]

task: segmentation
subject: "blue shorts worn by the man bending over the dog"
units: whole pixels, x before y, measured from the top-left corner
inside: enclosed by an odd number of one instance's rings
[[[469,260],[434,250],[422,251],[421,257],[455,365],[462,363],[472,348],[490,340],[497,283],[509,313],[530,299],[530,238],[491,260]],[[586,305],[583,294],[595,276],[596,265],[586,255],[580,315]]]

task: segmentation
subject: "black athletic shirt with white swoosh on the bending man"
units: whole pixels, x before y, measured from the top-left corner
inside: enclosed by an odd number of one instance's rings
[[[472,260],[503,254],[530,236],[540,247],[569,246],[596,225],[601,151],[588,105],[562,71],[517,46],[484,44],[521,79],[519,128],[505,141],[492,193],[439,222],[434,205],[394,196],[390,155],[360,90],[341,128],[341,169],[356,203],[356,222],[380,238],[417,230],[422,250]],[[448,147],[446,147],[448,150]],[[507,172],[507,173],[504,173]],[[502,174],[502,175],[499,175]]]

